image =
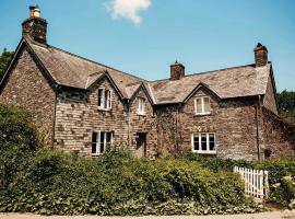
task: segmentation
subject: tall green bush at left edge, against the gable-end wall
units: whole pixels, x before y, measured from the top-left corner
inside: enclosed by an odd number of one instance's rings
[[[20,163],[40,146],[31,114],[22,107],[0,104],[0,188],[5,188]]]

